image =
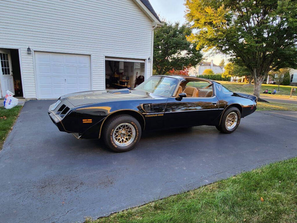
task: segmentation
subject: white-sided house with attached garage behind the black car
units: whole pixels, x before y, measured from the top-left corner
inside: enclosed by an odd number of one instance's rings
[[[106,64],[132,78],[152,75],[153,30],[162,23],[148,0],[7,0],[0,7],[2,97],[6,90],[38,99],[105,90]]]

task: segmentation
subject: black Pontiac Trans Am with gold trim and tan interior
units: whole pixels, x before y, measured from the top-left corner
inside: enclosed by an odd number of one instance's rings
[[[78,139],[101,138],[116,152],[131,150],[142,131],[215,126],[234,132],[256,111],[257,98],[196,77],[153,76],[135,89],[86,91],[61,96],[49,116]]]

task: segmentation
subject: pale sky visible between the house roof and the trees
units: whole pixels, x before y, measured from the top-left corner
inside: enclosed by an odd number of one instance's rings
[[[184,18],[186,7],[183,5],[183,0],[149,0],[154,10],[161,19],[166,19],[168,22],[179,21],[181,24],[186,22]],[[206,61],[213,59],[213,63],[219,64],[224,58],[226,64],[226,56],[223,55],[209,55],[210,53],[203,53]]]

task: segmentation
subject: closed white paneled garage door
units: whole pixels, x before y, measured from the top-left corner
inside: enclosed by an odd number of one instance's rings
[[[35,53],[38,98],[91,90],[90,56]]]

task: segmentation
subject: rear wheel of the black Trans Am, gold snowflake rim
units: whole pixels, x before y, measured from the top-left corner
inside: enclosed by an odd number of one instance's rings
[[[237,107],[230,107],[223,114],[221,124],[216,126],[217,130],[222,133],[233,133],[239,126],[241,114]]]

